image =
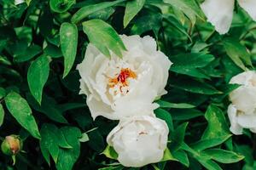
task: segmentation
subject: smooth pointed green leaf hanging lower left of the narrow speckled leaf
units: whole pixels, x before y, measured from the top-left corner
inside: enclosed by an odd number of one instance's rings
[[[33,97],[41,104],[44,84],[49,77],[51,59],[42,55],[34,60],[27,71],[27,82]]]

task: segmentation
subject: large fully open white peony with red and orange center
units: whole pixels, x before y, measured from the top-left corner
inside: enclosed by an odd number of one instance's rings
[[[168,70],[172,62],[156,49],[152,37],[120,36],[127,51],[120,59],[104,56],[92,44],[78,65],[80,94],[87,95],[91,116],[118,120],[150,115],[158,107],[154,99],[166,94]]]

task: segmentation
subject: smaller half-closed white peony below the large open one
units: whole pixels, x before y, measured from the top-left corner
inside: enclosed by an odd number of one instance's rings
[[[161,161],[169,129],[166,122],[153,116],[134,116],[120,121],[108,134],[107,142],[118,153],[125,167],[143,167]]]

